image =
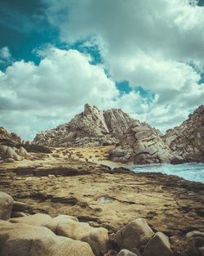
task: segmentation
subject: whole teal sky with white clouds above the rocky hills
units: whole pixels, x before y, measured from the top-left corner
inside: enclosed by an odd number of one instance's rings
[[[204,0],[1,0],[0,126],[33,140],[86,103],[165,132],[204,103]]]

